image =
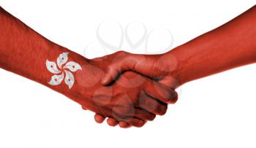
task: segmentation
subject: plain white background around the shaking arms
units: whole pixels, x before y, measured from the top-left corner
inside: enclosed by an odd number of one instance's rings
[[[148,32],[165,28],[176,47],[226,23],[255,0],[0,0],[0,5],[51,41],[80,54],[86,48],[86,57],[93,58],[106,54],[95,45],[102,21],[124,28],[139,21]],[[113,30],[105,29],[105,36]],[[118,44],[113,34],[109,42]],[[150,43],[157,52],[166,40]],[[143,45],[121,48],[143,51]],[[183,85],[165,116],[129,129],[99,125],[92,112],[68,98],[2,69],[0,82],[0,147],[256,147],[256,64]]]

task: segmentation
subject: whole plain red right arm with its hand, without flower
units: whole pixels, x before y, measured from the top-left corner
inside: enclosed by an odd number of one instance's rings
[[[256,62],[256,6],[230,22],[161,55],[123,53],[102,79],[135,71],[173,89],[195,79]]]

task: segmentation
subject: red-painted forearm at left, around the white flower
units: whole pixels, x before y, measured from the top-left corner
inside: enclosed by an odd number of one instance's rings
[[[53,74],[45,65],[47,60],[56,62],[63,52],[69,52],[70,61],[86,63],[82,56],[50,42],[0,7],[0,68],[64,93],[68,89],[64,84],[48,84]]]

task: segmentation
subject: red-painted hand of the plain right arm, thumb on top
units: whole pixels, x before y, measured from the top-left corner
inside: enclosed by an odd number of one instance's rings
[[[138,55],[121,51],[109,56],[112,61],[102,78],[102,85],[110,84],[124,71],[135,71],[173,89],[181,85],[176,79],[178,62],[170,53]]]

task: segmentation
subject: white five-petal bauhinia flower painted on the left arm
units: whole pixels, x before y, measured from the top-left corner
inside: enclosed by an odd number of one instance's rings
[[[68,57],[67,57],[68,54],[69,54],[69,52],[61,53],[59,55],[59,58],[57,58],[57,65],[58,65],[60,70],[58,69],[55,62],[48,61],[48,60],[46,61],[46,67],[47,67],[48,71],[55,74],[55,75],[53,75],[53,77],[51,77],[50,82],[48,82],[49,85],[59,85],[59,84],[61,84],[61,82],[64,79],[64,75],[65,75],[64,82],[66,83],[66,85],[69,86],[69,89],[71,89],[72,86],[74,85],[75,77],[72,74],[72,72],[82,70],[82,68],[78,63],[75,63],[73,61],[67,62],[68,61]],[[63,64],[65,64],[65,65],[62,67]]]

